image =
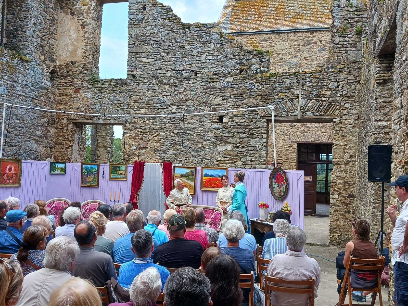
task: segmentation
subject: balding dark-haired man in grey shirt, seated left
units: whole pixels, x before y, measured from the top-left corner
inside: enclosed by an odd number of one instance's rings
[[[75,261],[73,276],[89,279],[96,287],[105,286],[105,282],[112,277],[118,279],[112,257],[93,248],[98,234],[91,221],[82,220],[75,226],[74,236],[80,253]]]

